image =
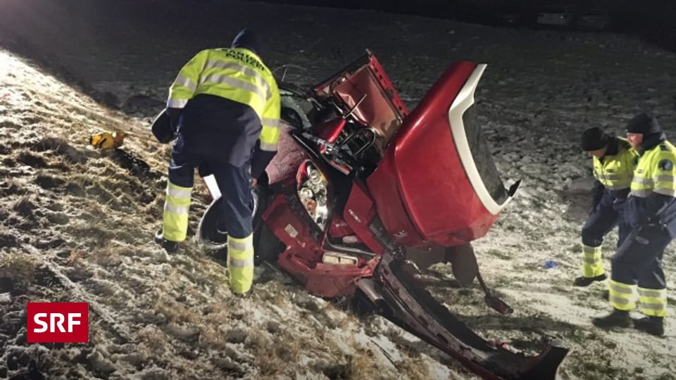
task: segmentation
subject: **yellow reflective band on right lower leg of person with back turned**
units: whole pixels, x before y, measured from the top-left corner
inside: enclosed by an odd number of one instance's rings
[[[253,234],[244,239],[227,236],[227,272],[230,290],[243,294],[253,284]]]

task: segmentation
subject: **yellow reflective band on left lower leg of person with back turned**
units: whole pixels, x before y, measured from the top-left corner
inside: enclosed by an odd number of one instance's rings
[[[188,233],[188,212],[192,187],[181,187],[169,183],[164,202],[163,238],[170,241],[184,241]]]

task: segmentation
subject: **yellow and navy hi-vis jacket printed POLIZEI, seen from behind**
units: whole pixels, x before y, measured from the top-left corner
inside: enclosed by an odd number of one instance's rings
[[[171,84],[167,107],[180,110],[177,144],[187,151],[235,166],[251,161],[253,177],[277,151],[280,91],[249,49],[199,51]]]

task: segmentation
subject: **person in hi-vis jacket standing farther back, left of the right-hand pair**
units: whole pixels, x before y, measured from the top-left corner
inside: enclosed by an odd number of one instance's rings
[[[603,268],[601,244],[608,232],[618,226],[618,246],[630,227],[622,215],[634,177],[638,153],[627,139],[611,137],[599,127],[582,133],[582,150],[589,152],[594,165],[592,212],[582,227],[582,276],[575,286],[589,286],[608,278]]]

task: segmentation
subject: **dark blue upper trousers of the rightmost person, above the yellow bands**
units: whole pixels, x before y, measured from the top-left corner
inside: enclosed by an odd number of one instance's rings
[[[633,229],[613,255],[612,279],[627,285],[638,282],[639,288],[665,289],[662,256],[671,239],[659,226]]]

